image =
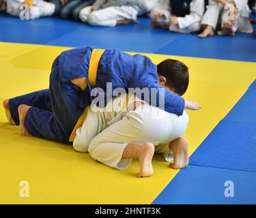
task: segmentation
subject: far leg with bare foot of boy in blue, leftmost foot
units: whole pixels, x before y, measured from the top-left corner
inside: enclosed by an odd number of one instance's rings
[[[48,89],[35,91],[27,95],[20,95],[11,99],[5,99],[3,107],[5,108],[9,123],[20,125],[18,117],[18,106],[20,106],[20,104],[27,104],[42,110],[52,110]]]

